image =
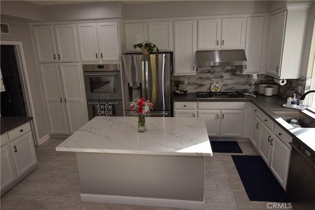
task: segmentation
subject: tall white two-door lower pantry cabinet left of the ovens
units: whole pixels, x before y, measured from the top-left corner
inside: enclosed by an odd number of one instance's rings
[[[78,63],[43,63],[40,73],[50,134],[71,134],[86,123]]]

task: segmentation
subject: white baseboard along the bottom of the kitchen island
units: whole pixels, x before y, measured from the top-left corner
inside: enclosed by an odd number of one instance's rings
[[[168,207],[191,210],[203,210],[205,202],[203,201],[187,201],[163,198],[144,198],[130,197],[118,195],[95,195],[81,193],[83,202],[109,203],[109,204],[127,204],[152,207]]]

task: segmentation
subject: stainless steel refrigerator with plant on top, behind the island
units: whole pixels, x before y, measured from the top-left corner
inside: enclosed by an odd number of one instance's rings
[[[123,55],[122,74],[126,116],[136,115],[130,111],[130,102],[140,97],[153,104],[150,116],[172,116],[171,53]]]

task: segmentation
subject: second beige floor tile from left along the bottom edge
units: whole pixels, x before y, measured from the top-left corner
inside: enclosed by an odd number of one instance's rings
[[[58,210],[65,197],[26,195],[12,210]]]

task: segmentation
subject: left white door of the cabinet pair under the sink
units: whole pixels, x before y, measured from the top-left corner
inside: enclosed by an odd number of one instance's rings
[[[264,123],[261,123],[258,151],[262,159],[266,162],[268,166],[270,163],[270,154],[272,149],[271,148],[272,135],[273,135],[272,131]]]

